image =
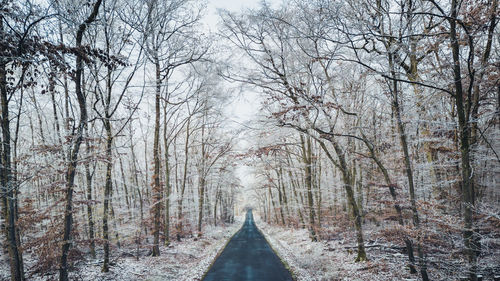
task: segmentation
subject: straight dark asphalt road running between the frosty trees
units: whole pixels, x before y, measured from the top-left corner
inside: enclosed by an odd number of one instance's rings
[[[243,227],[233,236],[205,275],[204,281],[293,280],[273,252],[248,211]]]

